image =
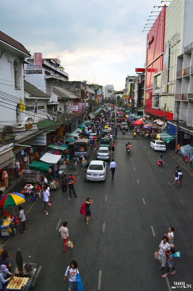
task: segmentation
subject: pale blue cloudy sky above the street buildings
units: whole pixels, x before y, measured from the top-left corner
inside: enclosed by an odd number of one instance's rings
[[[167,4],[167,2],[164,2]],[[125,87],[144,68],[147,31],[161,0],[6,0],[0,30],[42,58],[59,57],[69,81]],[[146,25],[150,26],[150,25]],[[149,28],[147,28],[149,29]]]

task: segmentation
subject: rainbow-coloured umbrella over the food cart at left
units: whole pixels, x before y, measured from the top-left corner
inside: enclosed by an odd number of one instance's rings
[[[0,198],[0,208],[7,208],[11,206],[16,206],[25,202],[25,196],[20,193],[8,193]],[[14,212],[14,210],[13,210]],[[14,212],[15,215],[15,212]]]

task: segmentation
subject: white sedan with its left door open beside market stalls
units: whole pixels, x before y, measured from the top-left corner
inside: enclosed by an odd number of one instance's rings
[[[90,161],[85,164],[81,170],[86,174],[88,181],[105,181],[107,173],[107,162],[104,161]]]

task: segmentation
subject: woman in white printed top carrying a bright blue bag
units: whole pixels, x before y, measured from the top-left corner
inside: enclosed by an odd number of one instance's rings
[[[78,271],[78,264],[76,263],[75,260],[72,260],[70,263],[70,266],[67,267],[66,273],[64,276],[64,281],[66,281],[66,277],[68,278],[68,283],[69,287],[68,290],[76,290],[76,279],[77,279],[77,274],[79,274]]]

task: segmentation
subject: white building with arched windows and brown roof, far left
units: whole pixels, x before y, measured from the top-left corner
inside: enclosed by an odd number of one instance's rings
[[[31,56],[14,38],[0,31],[0,126],[21,124],[25,116],[23,63]]]

